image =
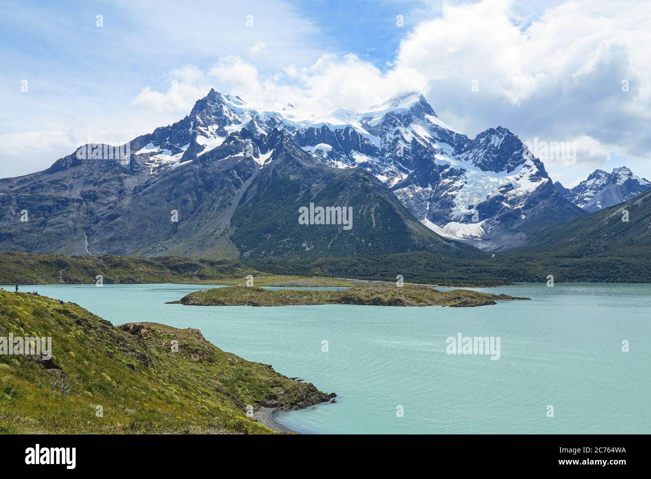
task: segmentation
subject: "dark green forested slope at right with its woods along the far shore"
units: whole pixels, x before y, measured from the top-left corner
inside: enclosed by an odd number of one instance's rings
[[[628,221],[622,221],[624,210]],[[450,258],[402,253],[309,261],[257,259],[251,266],[276,274],[314,275],[449,286],[501,282],[651,282],[651,190],[544,230],[529,232],[529,245],[494,258]]]

